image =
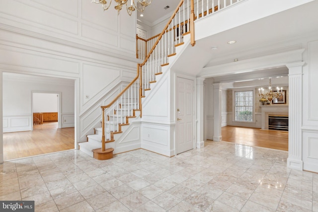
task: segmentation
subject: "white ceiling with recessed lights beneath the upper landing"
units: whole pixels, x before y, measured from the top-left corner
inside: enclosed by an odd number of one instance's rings
[[[203,68],[206,70],[207,67],[232,63],[235,59],[242,61],[279,51],[306,48],[306,43],[303,42],[306,42],[308,37],[318,34],[317,8],[318,0],[314,0],[197,40],[194,47],[189,45],[185,49],[174,67],[188,74],[199,75]],[[237,43],[229,45],[230,40],[236,40]],[[212,50],[212,47],[217,47],[217,50]],[[270,77],[266,72],[268,70],[263,70],[264,76]],[[288,69],[285,68],[285,75],[287,73]],[[240,78],[239,75],[236,77]],[[226,77],[222,80],[229,81]]]

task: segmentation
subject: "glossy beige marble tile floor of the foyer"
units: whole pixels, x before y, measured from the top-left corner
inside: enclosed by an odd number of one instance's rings
[[[318,212],[318,174],[288,169],[287,156],[223,141],[171,158],[70,150],[0,164],[0,200],[37,212]]]

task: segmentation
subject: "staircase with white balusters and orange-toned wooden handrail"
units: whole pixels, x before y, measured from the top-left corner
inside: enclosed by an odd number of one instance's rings
[[[145,99],[151,89],[156,86],[160,76],[165,74],[165,71],[169,71],[171,61],[178,58],[178,53],[184,50],[182,46],[185,40],[185,47],[189,44],[195,45],[194,20],[222,9],[220,6],[220,0],[217,0],[216,4],[214,0],[196,0],[196,4],[194,0],[180,1],[162,32],[159,36],[155,36],[158,39],[152,49],[145,50],[149,53],[144,62],[138,64],[137,76],[110,104],[101,106],[101,127],[95,128],[93,135],[87,135],[86,142],[79,143],[81,151],[100,160],[112,158],[113,152],[123,152],[118,150],[120,143],[118,140],[121,139],[123,132],[129,133],[132,122],[142,118],[142,103],[145,101],[142,99]],[[224,4],[223,8],[225,7]],[[194,11],[198,14],[196,17]],[[141,142],[139,143],[140,148]],[[127,150],[133,149],[136,149],[136,145]]]

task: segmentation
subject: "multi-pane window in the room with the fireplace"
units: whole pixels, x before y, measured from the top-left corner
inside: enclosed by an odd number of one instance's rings
[[[235,91],[235,121],[253,121],[253,91]]]

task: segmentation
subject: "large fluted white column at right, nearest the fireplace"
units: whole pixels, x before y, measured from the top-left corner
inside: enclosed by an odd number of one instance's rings
[[[303,170],[302,118],[304,62],[286,64],[289,69],[289,129],[287,167]]]

